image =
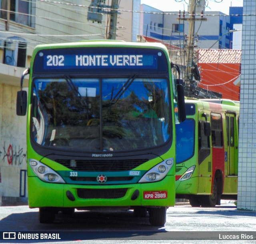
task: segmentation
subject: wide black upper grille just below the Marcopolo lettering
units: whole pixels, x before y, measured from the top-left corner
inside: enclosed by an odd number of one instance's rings
[[[81,160],[81,159],[56,159],[68,169],[74,171],[128,171],[132,170],[148,159],[127,159],[127,160]]]

